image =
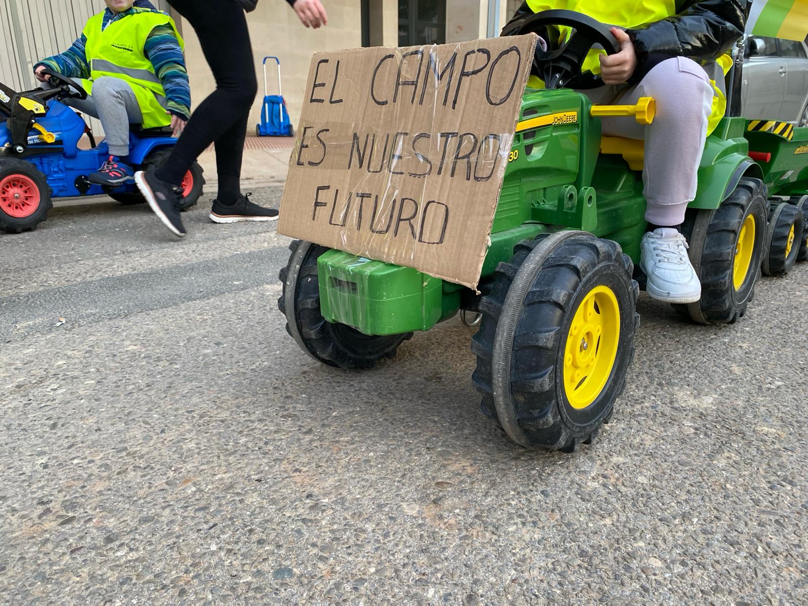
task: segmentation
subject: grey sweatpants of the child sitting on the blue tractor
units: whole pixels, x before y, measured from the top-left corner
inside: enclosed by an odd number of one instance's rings
[[[48,88],[50,85],[43,83],[42,86]],[[83,100],[65,99],[64,103],[101,120],[110,154],[129,154],[129,124],[141,124],[143,116],[128,82],[103,76],[93,81],[92,95]]]

